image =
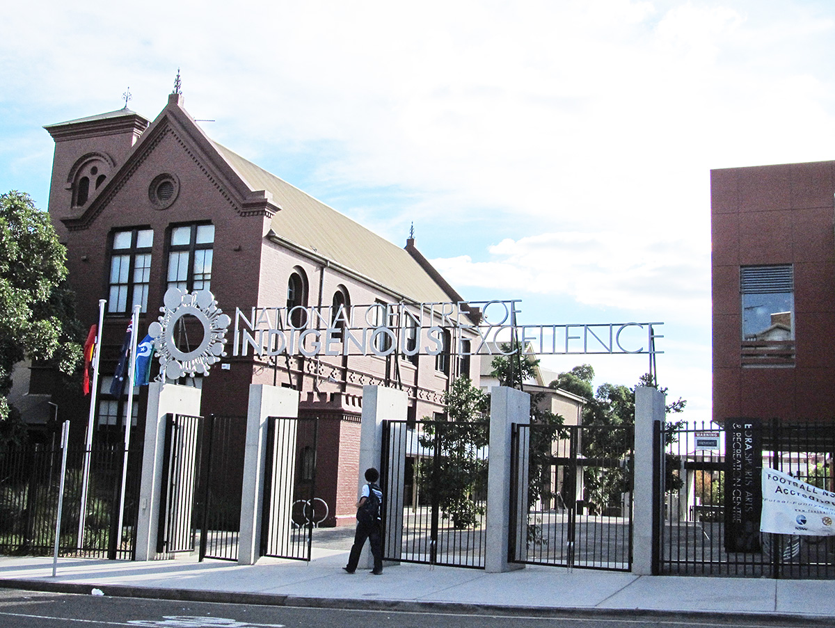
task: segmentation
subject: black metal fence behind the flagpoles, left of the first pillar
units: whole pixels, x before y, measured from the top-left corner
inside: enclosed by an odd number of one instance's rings
[[[135,443],[129,451],[119,547],[116,533],[124,444],[94,442],[90,449],[89,488],[79,542],[85,453],[83,444],[68,448],[58,552],[62,556],[133,559],[142,443]],[[0,553],[53,554],[61,455],[57,438],[53,443],[0,445]]]

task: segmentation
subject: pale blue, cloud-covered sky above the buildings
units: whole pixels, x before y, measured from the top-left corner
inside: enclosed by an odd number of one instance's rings
[[[711,418],[710,170],[831,160],[835,3],[58,3],[3,12],[0,191],[48,205],[44,124],[154,119],[180,70],[212,139],[529,324],[664,322]],[[234,306],[234,304],[232,305]],[[634,385],[646,356],[543,357]]]

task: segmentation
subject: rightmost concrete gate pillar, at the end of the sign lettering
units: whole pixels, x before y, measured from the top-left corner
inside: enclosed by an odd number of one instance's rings
[[[652,575],[653,544],[656,526],[653,520],[655,465],[653,463],[653,427],[664,423],[666,396],[657,388],[635,388],[635,487],[632,497],[632,573]],[[662,453],[663,454],[663,453]],[[663,491],[663,485],[660,485]]]

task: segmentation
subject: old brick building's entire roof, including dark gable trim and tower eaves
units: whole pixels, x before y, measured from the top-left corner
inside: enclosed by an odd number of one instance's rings
[[[312,259],[341,267],[349,275],[358,276],[397,299],[416,302],[462,300],[417,251],[412,240],[404,250],[210,139],[185,111],[180,94],[170,94],[168,105],[150,124],[130,109],[118,109],[44,128],[57,140],[59,136],[76,137],[85,133],[84,129],[88,127],[89,133],[101,134],[116,125],[119,129],[133,125],[139,140],[119,172],[83,214],[64,220],[69,229],[86,228],[119,188],[120,180],[129,177],[133,167],[153,149],[159,136],[166,129],[175,129],[189,137],[191,150],[201,162],[214,162],[216,185],[228,192],[236,210],[241,214],[256,210],[271,215],[268,237],[272,241]]]

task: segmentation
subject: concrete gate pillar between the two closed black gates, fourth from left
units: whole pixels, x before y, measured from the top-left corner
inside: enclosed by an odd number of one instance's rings
[[[494,387],[490,393],[490,450],[487,478],[487,516],[485,518],[487,556],[484,569],[499,573],[523,569],[524,565],[508,562],[510,524],[511,425],[530,423],[530,395],[514,388]],[[527,464],[519,465],[520,501],[527,512]],[[522,520],[522,519],[520,519]],[[518,526],[519,527],[519,526]],[[525,526],[521,526],[524,539]],[[519,542],[517,540],[517,542]],[[524,541],[523,541],[524,542]]]

